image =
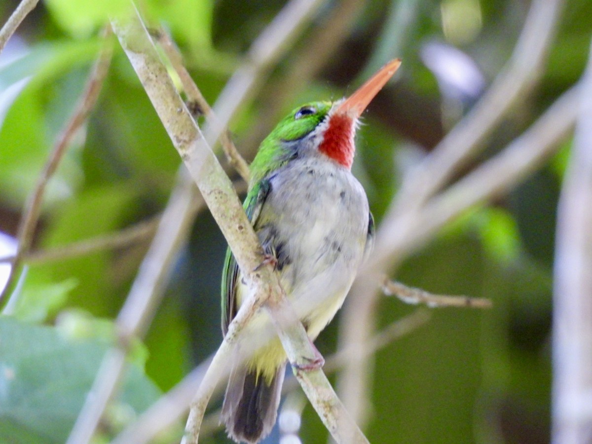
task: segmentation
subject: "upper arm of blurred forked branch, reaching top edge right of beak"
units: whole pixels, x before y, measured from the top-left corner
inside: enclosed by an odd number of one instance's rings
[[[445,186],[484,147],[484,140],[511,107],[535,86],[563,4],[563,0],[533,0],[509,63],[466,117],[446,134],[432,154],[408,173],[394,211],[406,213],[419,208]]]

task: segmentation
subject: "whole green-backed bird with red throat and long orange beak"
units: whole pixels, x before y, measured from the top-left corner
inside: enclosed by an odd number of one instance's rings
[[[244,209],[311,340],[332,320],[372,244],[374,220],[352,175],[359,117],[395,73],[392,60],[348,99],[292,111],[263,140],[250,166]],[[222,330],[247,297],[234,256],[222,276]],[[231,371],[222,419],[236,442],[256,443],[275,424],[287,357],[278,337],[257,343],[269,323],[257,313],[244,337],[256,351]],[[259,330],[258,330],[259,329]]]

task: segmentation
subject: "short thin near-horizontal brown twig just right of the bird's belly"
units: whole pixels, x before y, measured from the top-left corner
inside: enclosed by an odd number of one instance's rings
[[[420,288],[407,287],[401,282],[391,281],[388,276],[385,276],[382,282],[382,291],[387,296],[398,297],[406,304],[426,304],[428,307],[492,307],[491,300],[486,298],[432,294]]]

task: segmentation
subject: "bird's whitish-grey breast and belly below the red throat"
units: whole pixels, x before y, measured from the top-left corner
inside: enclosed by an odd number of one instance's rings
[[[255,229],[272,239],[284,287],[314,339],[343,304],[362,262],[368,200],[349,170],[317,157],[297,159],[271,178]],[[239,304],[243,291],[237,291]]]

